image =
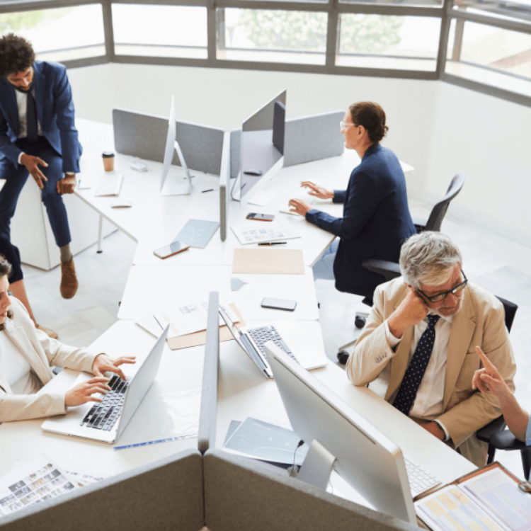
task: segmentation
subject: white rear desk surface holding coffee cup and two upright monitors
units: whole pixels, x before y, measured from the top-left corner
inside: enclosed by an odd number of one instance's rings
[[[81,157],[81,181],[89,179],[90,189],[76,188],[76,195],[101,213],[103,217],[115,224],[122,232],[137,241],[137,249],[133,264],[135,265],[212,265],[232,264],[235,247],[241,247],[238,239],[230,228],[227,229],[227,240],[222,242],[219,231],[212,236],[205,249],[190,248],[165,260],[154,256],[154,249],[159,249],[171,242],[184,227],[188,219],[207,219],[219,221],[219,177],[209,176],[198,171],[193,174],[193,190],[190,195],[162,196],[159,193],[162,164],[154,161],[143,161],[148,171],[139,173],[130,169],[134,161],[132,156],[117,154],[115,171],[124,173],[120,200],[132,202],[130,208],[112,208],[115,197],[96,197],[96,190],[104,178],[101,153],[113,149],[112,125],[76,120],[79,137],[84,146]],[[163,149],[164,147],[161,147]],[[285,207],[287,200],[301,192],[302,181],[316,181],[329,188],[344,189],[352,169],[358,166],[360,159],[354,150],[346,150],[341,156],[329,159],[297,164],[281,169],[265,185],[265,191],[274,194],[273,199],[264,207],[249,205],[248,198],[242,202],[229,201],[229,227],[234,224],[249,223],[254,227],[257,222],[246,221],[249,212],[264,212],[275,215],[275,221],[281,221],[286,227],[300,234],[301,238],[287,241],[285,249],[302,249],[304,263],[313,265],[334,239],[333,234],[326,232],[303,217],[279,212]],[[405,172],[413,168],[402,163]],[[172,166],[171,171],[181,171]],[[231,181],[231,186],[234,180]],[[214,188],[212,192],[202,193],[201,190]],[[252,198],[253,191],[249,193]],[[321,210],[335,216],[341,216],[343,205],[333,204],[330,200],[315,204]]]

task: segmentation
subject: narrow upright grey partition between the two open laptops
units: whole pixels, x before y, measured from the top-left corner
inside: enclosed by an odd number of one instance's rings
[[[199,451],[204,454],[216,445],[217,380],[219,375],[219,294],[208,299],[207,339],[202,369],[201,408],[199,415]]]

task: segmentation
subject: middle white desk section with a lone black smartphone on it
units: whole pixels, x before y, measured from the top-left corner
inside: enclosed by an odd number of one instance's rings
[[[231,278],[247,284],[231,291]],[[304,268],[304,275],[241,275],[232,273],[232,265],[133,265],[118,318],[139,319],[177,302],[208,300],[211,291],[218,291],[222,301],[234,302],[244,321],[319,319],[311,268]],[[295,312],[262,308],[263,297],[295,300],[297,307]]]

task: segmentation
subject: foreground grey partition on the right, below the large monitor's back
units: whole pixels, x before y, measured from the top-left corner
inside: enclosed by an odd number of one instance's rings
[[[203,474],[205,525],[210,531],[418,530],[223,450],[208,450]]]

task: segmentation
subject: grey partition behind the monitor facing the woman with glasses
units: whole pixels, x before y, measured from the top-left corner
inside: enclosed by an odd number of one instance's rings
[[[343,154],[344,140],[339,122],[344,110],[286,120],[284,166],[327,159]],[[241,130],[231,131],[231,178],[238,176],[241,158]]]

